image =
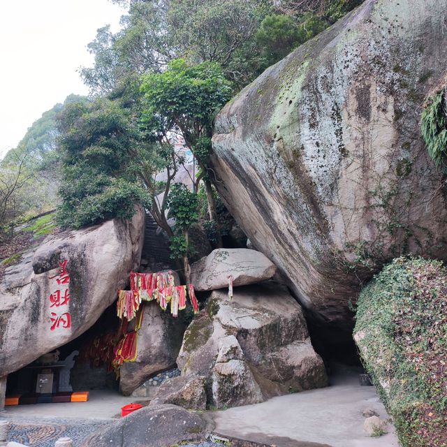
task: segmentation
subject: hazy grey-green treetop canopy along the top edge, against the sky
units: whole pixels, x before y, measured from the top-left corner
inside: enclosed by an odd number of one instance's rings
[[[160,72],[182,57],[193,64],[215,61],[235,87],[265,68],[254,35],[272,0],[131,1],[123,29],[98,29],[88,47],[93,67],[82,67],[92,94],[110,93],[130,73]]]

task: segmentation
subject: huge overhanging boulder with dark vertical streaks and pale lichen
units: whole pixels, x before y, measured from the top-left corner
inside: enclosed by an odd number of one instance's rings
[[[323,321],[344,325],[360,281],[384,262],[446,258],[444,180],[419,125],[446,75],[446,8],[366,0],[217,117],[219,193]]]

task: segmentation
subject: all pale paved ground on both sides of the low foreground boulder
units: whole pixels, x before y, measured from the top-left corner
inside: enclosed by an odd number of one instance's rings
[[[8,406],[0,419],[13,423],[11,441],[54,447],[56,439],[68,436],[78,447],[91,432],[119,417],[122,406],[141,400],[144,398],[92,391],[89,402]],[[360,386],[357,375],[345,374],[332,379],[329,388],[209,414],[217,425],[214,431],[223,436],[278,447],[398,447],[392,430],[383,437],[365,437],[365,409],[388,418],[374,388]]]

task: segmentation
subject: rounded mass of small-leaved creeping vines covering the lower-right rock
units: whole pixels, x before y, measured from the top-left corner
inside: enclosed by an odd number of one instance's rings
[[[362,291],[354,330],[404,447],[447,446],[447,270],[397,258]]]

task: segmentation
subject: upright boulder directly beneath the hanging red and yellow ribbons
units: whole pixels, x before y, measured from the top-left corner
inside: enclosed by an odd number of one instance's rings
[[[124,395],[130,395],[157,372],[175,366],[185,328],[182,315],[173,318],[156,302],[145,305],[138,331],[137,359],[124,362],[120,369],[119,387]]]

